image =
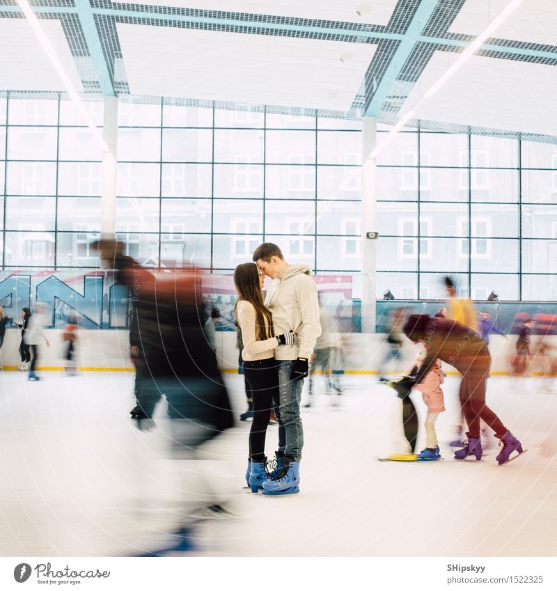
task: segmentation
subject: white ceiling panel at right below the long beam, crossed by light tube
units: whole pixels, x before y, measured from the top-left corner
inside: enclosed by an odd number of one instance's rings
[[[401,113],[418,102],[458,54],[435,52]],[[557,135],[557,68],[472,56],[416,118],[533,134]]]

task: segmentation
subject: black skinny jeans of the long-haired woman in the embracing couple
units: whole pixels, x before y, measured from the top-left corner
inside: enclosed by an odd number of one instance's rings
[[[263,462],[271,409],[274,409],[278,419],[278,448],[284,449],[285,446],[285,431],[278,407],[278,364],[274,358],[244,361],[244,376],[253,396],[249,457],[252,462]]]

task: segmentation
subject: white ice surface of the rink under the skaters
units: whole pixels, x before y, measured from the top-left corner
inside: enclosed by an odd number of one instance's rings
[[[437,422],[443,460],[378,462],[396,451],[398,401],[376,376],[344,376],[341,397],[318,394],[314,407],[303,411],[300,494],[267,498],[242,488],[250,423],[237,423],[208,443],[203,460],[177,462],[168,452],[164,404],[154,432],[139,432],[130,420],[133,374],[42,376],[31,382],[19,372],[0,374],[1,555],[557,552],[557,390],[551,379],[489,380],[489,406],[528,448],[499,467],[494,440],[483,462],[452,459],[447,442],[455,434],[457,377],[446,380],[447,412]],[[238,416],[245,406],[243,379],[225,379]],[[425,406],[419,397],[416,404],[422,423]],[[272,425],[269,456],[276,436]],[[423,443],[421,434],[418,448]],[[187,483],[198,471],[212,474],[212,487],[233,518],[198,521],[177,537],[191,500]]]

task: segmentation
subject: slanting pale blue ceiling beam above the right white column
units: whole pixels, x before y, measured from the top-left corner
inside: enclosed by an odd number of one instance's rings
[[[421,33],[434,13],[435,8],[437,8],[437,3],[438,0],[421,0],[420,6],[416,10],[405,36],[402,38],[395,54],[391,58],[389,67],[386,69],[375,93],[373,93],[372,100],[366,109],[366,117],[376,117],[379,114],[382,104],[386,97],[391,94],[391,90],[396,84],[400,70],[404,67],[416,43],[420,41]]]

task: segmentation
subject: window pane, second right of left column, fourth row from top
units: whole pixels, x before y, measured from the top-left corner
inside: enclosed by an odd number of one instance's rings
[[[210,199],[163,199],[161,232],[170,235],[211,231]]]

